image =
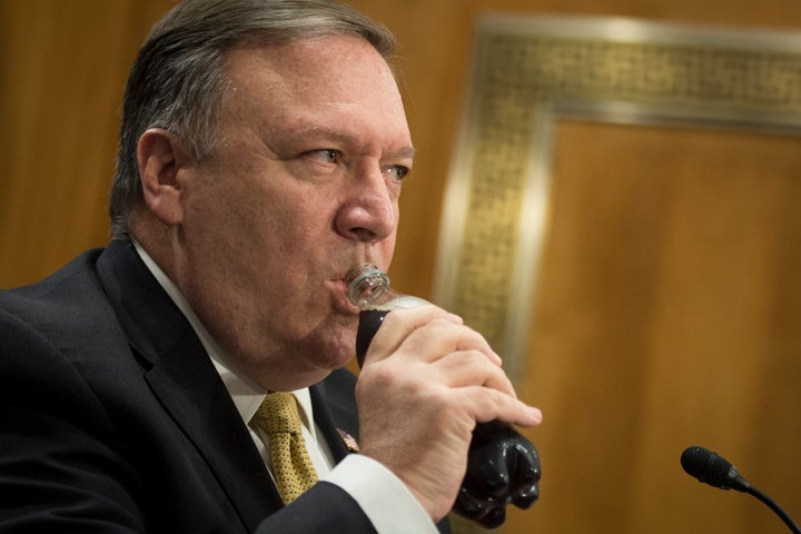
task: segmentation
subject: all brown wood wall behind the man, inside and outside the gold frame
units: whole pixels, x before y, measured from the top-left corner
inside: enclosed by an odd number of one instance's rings
[[[171,3],[0,0],[0,287],[107,241],[125,79]],[[424,297],[478,13],[801,31],[798,0],[350,3],[400,42],[419,157],[390,274]],[[686,478],[678,457],[695,438],[720,447],[801,514],[798,140],[565,121],[555,147],[554,219],[518,377],[545,411],[528,433],[544,458],[543,498],[513,511],[504,532],[784,532],[750,497]]]

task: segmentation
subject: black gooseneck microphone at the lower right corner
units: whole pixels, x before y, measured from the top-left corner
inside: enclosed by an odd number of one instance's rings
[[[801,528],[772,498],[756,490],[743,478],[736,468],[725,461],[718,453],[703,447],[688,447],[681,456],[681,464],[684,471],[710,486],[721,490],[734,490],[748,493],[768,505],[794,534],[801,534]]]

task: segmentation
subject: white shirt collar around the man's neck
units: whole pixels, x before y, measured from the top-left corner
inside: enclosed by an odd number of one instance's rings
[[[195,315],[195,312],[192,312],[189,303],[187,303],[186,298],[178,289],[178,286],[169,279],[165,271],[161,270],[161,268],[156,264],[150,255],[145,251],[136,239],[131,238],[131,240],[134,241],[134,246],[136,247],[139,257],[142,261],[145,261],[148,270],[150,270],[164,290],[167,291],[167,295],[169,295],[176,306],[178,306],[178,309],[180,309],[189,322],[189,325],[197,334],[200,343],[211,358],[215,369],[217,369],[217,373],[222,379],[222,384],[225,384],[228,394],[234,400],[234,405],[236,406],[237,412],[239,412],[239,416],[241,416],[243,422],[247,425],[253,416],[256,415],[256,411],[261,404],[261,400],[264,400],[267,392],[236,368],[225,349],[215,340],[214,337],[211,337],[202,323],[200,323],[200,319],[198,319],[197,315]],[[296,389],[290,393],[295,396],[298,403],[300,422],[314,434],[315,425],[312,424],[314,421],[314,413],[312,411],[312,395],[309,394],[308,387]]]

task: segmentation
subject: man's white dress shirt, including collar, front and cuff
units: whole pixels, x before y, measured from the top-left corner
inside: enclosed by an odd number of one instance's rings
[[[269,438],[249,425],[267,392],[238,372],[225,350],[197,318],[178,287],[136,240],[134,240],[134,245],[145,265],[186,316],[206,348],[243,418],[243,423],[250,431],[250,437],[265,461],[267,469],[270,471]],[[297,399],[306,448],[320,481],[336,484],[347,492],[359,504],[380,534],[436,534],[438,532],[412,492],[379,462],[359,454],[349,454],[334,466],[328,444],[324,438],[318,437],[320,432],[314,422],[308,388],[298,389],[291,394]]]

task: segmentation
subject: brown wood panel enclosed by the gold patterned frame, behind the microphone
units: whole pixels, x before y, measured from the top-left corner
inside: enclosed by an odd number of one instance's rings
[[[546,417],[527,433],[543,497],[508,532],[783,532],[679,457],[718,451],[800,513],[801,139],[567,120],[556,137],[518,388]]]

